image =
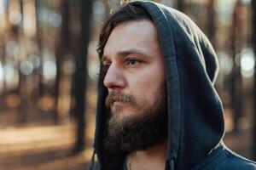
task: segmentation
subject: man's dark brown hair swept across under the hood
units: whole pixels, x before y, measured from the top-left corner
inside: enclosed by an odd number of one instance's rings
[[[114,13],[102,27],[97,48],[100,59],[102,59],[105,45],[113,29],[120,23],[131,20],[151,20],[151,18],[144,8],[137,7],[134,3],[127,3],[122,8],[119,8],[119,10]]]

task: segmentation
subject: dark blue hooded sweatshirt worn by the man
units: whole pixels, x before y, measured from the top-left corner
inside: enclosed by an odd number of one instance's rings
[[[214,88],[218,59],[207,37],[188,16],[173,8],[151,1],[130,4],[144,8],[153,20],[166,66],[166,170],[256,170],[255,162],[236,155],[222,142],[224,110]],[[109,118],[104,105],[107,95],[100,78],[94,154],[88,170],[124,167],[127,153],[103,150]]]

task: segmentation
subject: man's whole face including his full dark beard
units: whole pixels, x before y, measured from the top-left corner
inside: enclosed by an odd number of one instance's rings
[[[154,24],[119,24],[108,37],[102,64],[111,109],[106,150],[146,150],[165,140],[166,77]]]

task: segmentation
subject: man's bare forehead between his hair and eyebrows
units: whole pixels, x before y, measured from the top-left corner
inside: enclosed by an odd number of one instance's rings
[[[151,51],[156,48],[159,48],[159,40],[152,21],[125,21],[111,32],[104,48],[104,55],[113,55],[131,49]]]

